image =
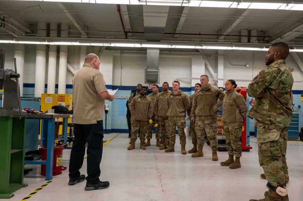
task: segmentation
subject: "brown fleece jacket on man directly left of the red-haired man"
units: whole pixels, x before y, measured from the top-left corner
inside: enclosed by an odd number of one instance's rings
[[[166,97],[170,95],[170,91],[162,91],[157,94],[156,100],[154,102],[154,114],[160,117],[168,117],[167,116],[167,105],[166,105]]]

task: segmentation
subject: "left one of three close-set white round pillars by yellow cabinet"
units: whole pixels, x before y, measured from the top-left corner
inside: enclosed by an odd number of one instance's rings
[[[46,22],[38,22],[37,36],[46,37]],[[37,45],[35,70],[35,97],[45,93],[46,45]]]

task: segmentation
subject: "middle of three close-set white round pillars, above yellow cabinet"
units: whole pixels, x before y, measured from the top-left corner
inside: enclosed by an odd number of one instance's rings
[[[58,24],[50,23],[50,37],[57,37]],[[57,66],[57,45],[49,45],[49,69],[47,74],[47,93],[55,93]]]

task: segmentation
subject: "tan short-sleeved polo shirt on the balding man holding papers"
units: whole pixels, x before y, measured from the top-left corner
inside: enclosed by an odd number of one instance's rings
[[[107,91],[103,75],[84,63],[72,79],[75,124],[96,124],[103,120],[104,99],[99,93]]]

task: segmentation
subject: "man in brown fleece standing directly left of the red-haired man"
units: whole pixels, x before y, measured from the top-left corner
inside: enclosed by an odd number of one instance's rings
[[[166,105],[166,98],[170,95],[170,91],[168,91],[168,83],[164,82],[162,85],[162,92],[158,93],[156,96],[156,100],[154,103],[154,114],[155,120],[159,120],[158,127],[160,128],[160,139],[162,146],[159,147],[160,150],[167,149],[167,145],[169,143],[168,137],[168,116],[167,116],[167,105]]]

